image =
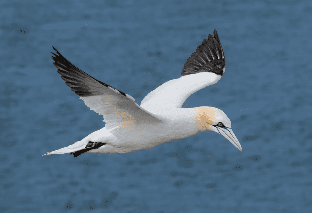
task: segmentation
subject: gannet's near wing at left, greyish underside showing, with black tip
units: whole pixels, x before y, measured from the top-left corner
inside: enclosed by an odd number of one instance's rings
[[[103,115],[106,128],[118,125],[162,122],[154,114],[135,103],[133,97],[118,89],[91,77],[56,51],[52,59],[65,84],[79,95],[85,104],[100,115]]]

